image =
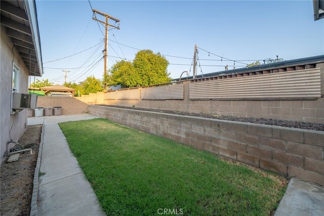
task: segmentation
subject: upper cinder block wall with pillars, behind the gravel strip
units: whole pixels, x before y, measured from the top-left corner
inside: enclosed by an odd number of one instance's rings
[[[102,101],[107,105],[135,105],[148,109],[324,123],[324,63],[318,63],[316,67],[321,71],[321,97],[316,100],[300,100],[298,98],[292,100],[190,100],[190,81],[185,81],[183,82],[183,100],[142,100],[140,97],[139,100]],[[138,91],[140,95],[140,89]]]

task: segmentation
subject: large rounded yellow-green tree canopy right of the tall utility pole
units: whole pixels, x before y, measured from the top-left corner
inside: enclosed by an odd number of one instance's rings
[[[168,65],[168,60],[159,53],[141,50],[136,54],[133,62],[121,60],[115,63],[108,70],[104,82],[123,87],[168,83],[172,80],[167,71]]]

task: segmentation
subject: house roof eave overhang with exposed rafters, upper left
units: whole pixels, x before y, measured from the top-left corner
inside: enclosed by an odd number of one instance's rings
[[[1,25],[7,30],[29,75],[43,75],[41,40],[39,39],[35,1],[1,1]]]

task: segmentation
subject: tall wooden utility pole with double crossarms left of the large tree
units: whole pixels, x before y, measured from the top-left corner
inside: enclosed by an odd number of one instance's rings
[[[120,28],[119,28],[120,20],[117,19],[117,18],[114,18],[114,17],[112,17],[112,16],[110,16],[110,15],[108,15],[108,14],[105,14],[105,13],[103,13],[103,12],[101,12],[101,11],[98,11],[98,10],[96,10],[96,9],[93,9],[92,11],[93,11],[93,13],[94,13],[94,17],[92,17],[92,19],[93,19],[93,20],[96,20],[96,21],[98,21],[98,22],[100,22],[100,23],[102,23],[102,24],[104,24],[104,26],[105,26],[105,49],[104,49],[104,67],[103,67],[103,74],[104,74],[104,76],[105,76],[106,73],[107,73],[108,26],[113,27],[113,28],[120,29]],[[105,17],[105,22],[103,22],[103,21],[101,21],[101,20],[98,20],[97,17],[96,17],[96,14],[100,14],[100,15],[104,16],[104,17]],[[118,23],[118,25],[115,26],[115,25],[111,25],[111,24],[109,24],[109,23],[108,23],[109,19],[115,21],[115,23]],[[105,89],[106,89],[106,84],[105,84]]]

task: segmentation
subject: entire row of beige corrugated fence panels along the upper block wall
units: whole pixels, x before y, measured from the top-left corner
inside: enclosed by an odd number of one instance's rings
[[[320,68],[189,83],[189,99],[309,99],[321,96]],[[183,100],[183,82],[107,92],[106,100]]]

